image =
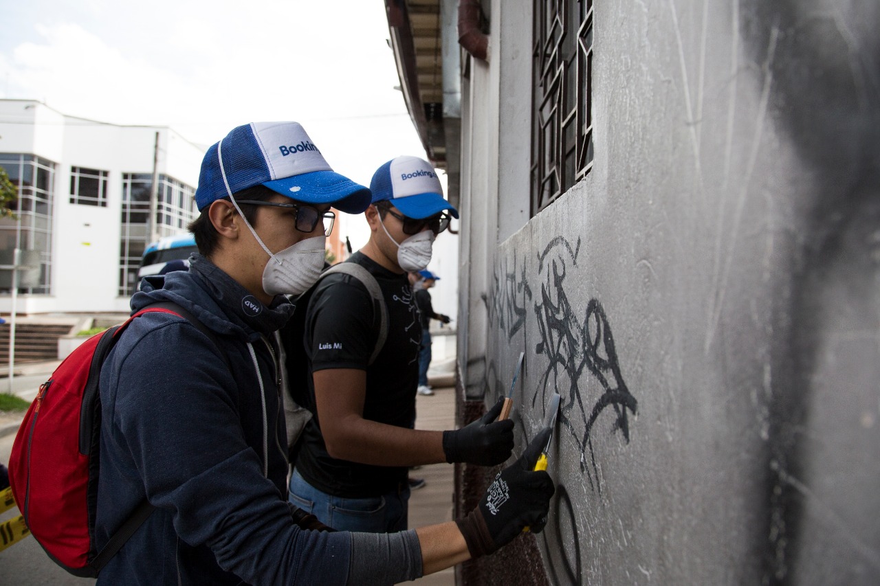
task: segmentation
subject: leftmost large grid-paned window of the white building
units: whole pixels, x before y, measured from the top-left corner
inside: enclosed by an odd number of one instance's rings
[[[52,289],[52,216],[55,202],[55,163],[33,155],[0,154],[0,166],[18,187],[13,209],[18,219],[0,219],[0,264],[11,264],[14,249],[40,252],[40,284],[19,293],[49,294]],[[9,275],[8,272],[6,272]],[[11,292],[11,281],[0,282]]]

